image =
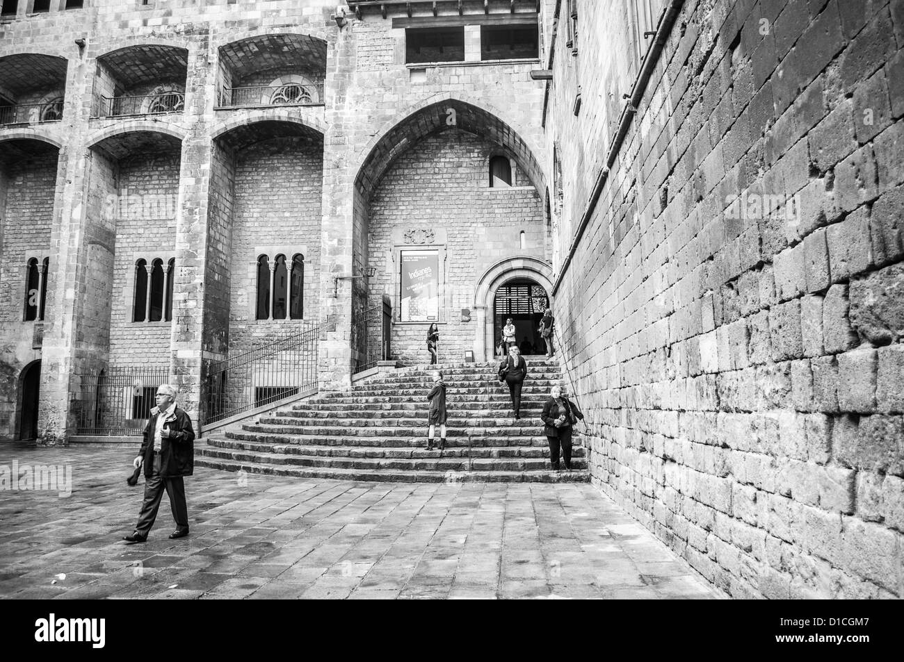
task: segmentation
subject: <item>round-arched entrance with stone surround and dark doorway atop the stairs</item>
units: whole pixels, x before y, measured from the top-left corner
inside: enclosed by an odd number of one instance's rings
[[[533,290],[534,287],[538,289]],[[520,334],[517,336],[518,342],[523,340],[525,334],[528,335],[528,340],[533,342],[532,333],[536,333],[542,317],[542,310],[539,306],[544,303],[552,305],[551,291],[552,267],[544,260],[536,257],[511,257],[501,260],[487,269],[477,281],[474,296],[474,312],[476,314],[475,359],[484,361],[494,359],[495,348],[499,345],[502,324],[505,323],[504,315],[508,314],[508,310],[512,310],[500,307],[498,309],[500,312],[497,314],[497,294],[501,293],[502,300],[507,302],[505,304],[501,303],[501,306],[513,305],[514,310],[520,311],[516,313],[522,320],[521,327],[516,325],[516,329],[518,329]],[[527,298],[532,298],[534,292],[536,292],[538,299],[542,296],[542,302],[528,303],[524,301],[525,295]],[[540,294],[541,292],[542,295]],[[540,311],[539,316],[534,312],[534,306],[537,306],[537,310]],[[554,312],[555,307],[553,305]],[[502,316],[501,321],[497,322],[497,318],[500,316]],[[514,321],[514,315],[512,317]],[[535,322],[533,323],[532,332],[526,331],[528,322]],[[497,324],[499,325],[498,329],[496,328]]]

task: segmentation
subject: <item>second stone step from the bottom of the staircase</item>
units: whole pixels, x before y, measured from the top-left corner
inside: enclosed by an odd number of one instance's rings
[[[438,440],[437,440],[438,442]],[[352,458],[390,458],[390,459],[424,459],[437,456],[437,451],[428,451],[424,443],[417,446],[401,448],[385,446],[324,446],[316,444],[300,445],[294,443],[260,443],[253,441],[237,441],[226,437],[212,437],[207,439],[207,444],[216,448],[231,449],[234,451],[274,452],[292,455],[310,455],[321,457],[352,457]],[[549,448],[543,446],[511,446],[511,447],[484,447],[475,446],[468,448],[466,445],[451,445],[447,443],[443,451],[443,457],[457,458],[548,458]],[[575,446],[572,449],[573,458],[586,457],[583,446]]]

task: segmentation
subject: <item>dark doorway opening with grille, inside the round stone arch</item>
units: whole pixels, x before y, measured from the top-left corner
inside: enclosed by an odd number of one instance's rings
[[[545,354],[546,344],[537,327],[548,302],[546,289],[532,278],[514,278],[499,285],[493,297],[494,348],[498,348],[505,322],[511,318],[521,353]],[[494,351],[501,353],[498,349]]]

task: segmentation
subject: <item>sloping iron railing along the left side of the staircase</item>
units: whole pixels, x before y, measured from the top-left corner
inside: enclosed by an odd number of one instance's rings
[[[205,383],[204,425],[316,389],[320,327],[300,323],[302,331],[211,364]]]

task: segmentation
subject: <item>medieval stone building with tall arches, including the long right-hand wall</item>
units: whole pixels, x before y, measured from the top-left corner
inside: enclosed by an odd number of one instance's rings
[[[899,0],[3,0],[0,435],[551,303],[600,490],[732,595],[900,597],[902,117]]]

